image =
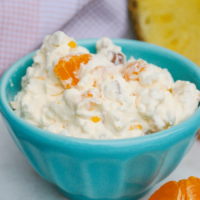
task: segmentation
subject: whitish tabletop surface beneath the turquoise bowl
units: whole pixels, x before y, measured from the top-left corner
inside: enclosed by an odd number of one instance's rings
[[[196,141],[190,152],[176,170],[157,184],[141,200],[147,200],[155,190],[170,180],[189,176],[200,177],[200,141]],[[66,200],[55,186],[43,180],[29,165],[17,149],[0,116],[0,200]]]

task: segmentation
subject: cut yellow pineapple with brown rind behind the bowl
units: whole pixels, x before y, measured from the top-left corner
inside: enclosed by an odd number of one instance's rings
[[[174,50],[200,67],[200,0],[129,0],[140,40]]]

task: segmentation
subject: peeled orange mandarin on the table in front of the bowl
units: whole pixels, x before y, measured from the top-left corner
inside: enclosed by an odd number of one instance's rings
[[[149,200],[199,200],[200,179],[194,176],[187,180],[170,181],[158,189]]]

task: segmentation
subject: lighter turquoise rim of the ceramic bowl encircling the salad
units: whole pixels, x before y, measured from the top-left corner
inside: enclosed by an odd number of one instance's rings
[[[82,39],[82,40],[77,40],[77,43],[79,45],[84,45],[88,43],[95,43],[98,39]],[[148,48],[149,50],[153,50],[156,53],[162,52],[166,53],[168,56],[172,56],[175,59],[182,60],[182,62],[186,63],[186,65],[189,65],[200,77],[200,69],[199,67],[194,64],[192,61],[189,59],[185,58],[184,56],[171,51],[169,49],[166,49],[164,47],[150,44],[147,42],[142,42],[142,41],[136,41],[136,40],[130,40],[130,39],[112,39],[114,43],[118,43],[118,45],[121,43],[123,44],[132,44],[132,45],[137,45],[138,47]],[[133,144],[141,144],[149,141],[154,141],[155,142],[161,142],[163,143],[163,137],[167,137],[168,139],[171,138],[170,141],[173,141],[175,138],[176,139],[181,139],[184,137],[184,134],[181,134],[181,130],[183,129],[188,129],[188,127],[193,124],[193,122],[196,122],[196,129],[200,127],[200,107],[195,111],[195,113],[186,119],[185,121],[171,127],[170,129],[166,129],[163,131],[159,131],[154,134],[150,135],[145,135],[145,137],[140,136],[140,137],[132,137],[132,138],[125,138],[125,139],[109,139],[109,140],[98,140],[98,139],[84,139],[84,138],[76,138],[76,137],[71,137],[71,136],[64,136],[64,135],[58,135],[46,130],[43,130],[41,128],[38,128],[19,116],[17,116],[13,110],[11,109],[11,106],[9,102],[6,99],[6,85],[10,81],[10,79],[13,76],[13,73],[19,69],[21,63],[23,63],[26,60],[32,59],[33,55],[35,54],[35,51],[27,54],[26,56],[22,57],[19,59],[17,62],[15,62],[8,70],[4,73],[0,80],[0,111],[4,115],[5,118],[9,118],[9,120],[12,120],[15,122],[15,124],[22,126],[26,130],[32,130],[35,132],[35,134],[30,134],[29,131],[26,131],[26,138],[28,139],[33,139],[37,142],[42,142],[43,139],[48,139],[49,142],[64,142],[64,139],[66,141],[71,141],[71,142],[78,142],[78,143],[87,143],[87,144],[98,144],[98,145],[133,145]],[[174,134],[174,133],[178,134]],[[168,137],[170,135],[173,135],[173,137]]]

